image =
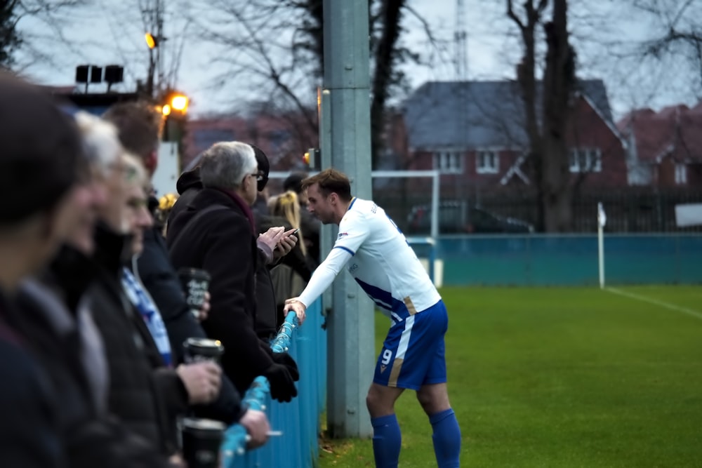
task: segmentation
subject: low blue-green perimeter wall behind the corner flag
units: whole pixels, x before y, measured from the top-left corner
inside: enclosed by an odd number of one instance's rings
[[[412,245],[430,258],[431,246]],[[444,286],[599,283],[597,235],[439,236]],[[702,234],[604,234],[607,284],[702,283]]]

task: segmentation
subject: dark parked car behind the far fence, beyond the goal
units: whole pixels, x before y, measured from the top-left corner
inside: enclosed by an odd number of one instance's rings
[[[407,215],[408,234],[429,234],[432,206],[413,206]],[[506,218],[466,201],[439,202],[439,234],[526,234],[534,226],[526,221]]]

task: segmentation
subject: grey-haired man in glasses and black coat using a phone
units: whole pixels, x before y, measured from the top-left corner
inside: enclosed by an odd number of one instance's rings
[[[263,375],[272,398],[291,401],[297,395],[297,365],[288,354],[273,353],[255,329],[255,276],[261,258],[251,204],[262,177],[251,145],[216,143],[201,158],[204,188],[173,220],[166,241],[175,267],[211,275],[211,308],[202,326],[223,343],[222,367],[239,392]],[[289,250],[297,241],[282,227],[270,229],[261,240],[269,254],[279,245]]]

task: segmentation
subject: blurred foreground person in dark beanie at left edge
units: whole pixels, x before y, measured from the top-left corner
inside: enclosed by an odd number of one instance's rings
[[[59,468],[66,462],[58,404],[32,337],[10,300],[39,272],[74,220],[72,198],[85,159],[77,129],[51,98],[0,72],[0,463]]]

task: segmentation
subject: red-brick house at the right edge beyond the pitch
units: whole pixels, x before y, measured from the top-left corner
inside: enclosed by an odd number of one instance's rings
[[[617,126],[629,142],[630,185],[702,185],[702,102],[638,109]]]

